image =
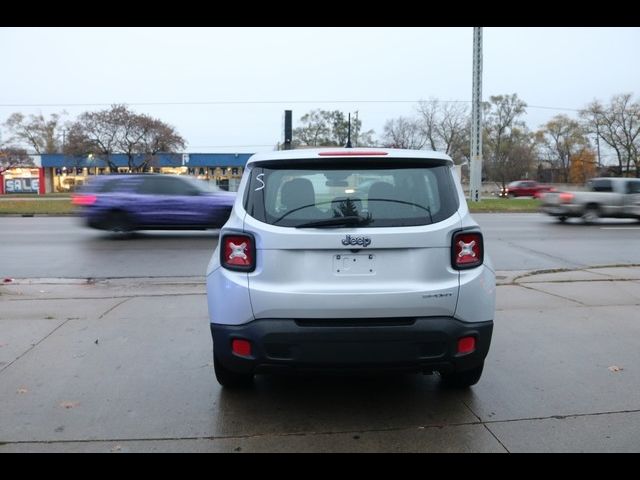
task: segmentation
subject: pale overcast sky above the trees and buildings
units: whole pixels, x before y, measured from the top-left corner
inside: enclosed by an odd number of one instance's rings
[[[358,111],[363,128],[380,135],[386,120],[415,114],[421,99],[470,103],[472,34],[472,27],[0,28],[0,122],[16,111],[66,110],[72,119],[126,103],[176,127],[190,152],[253,152],[282,141],[285,109],[295,127],[321,108]],[[640,93],[640,28],[486,27],[483,37],[483,98],[517,93],[531,128],[558,113],[576,115],[562,109],[596,98]]]

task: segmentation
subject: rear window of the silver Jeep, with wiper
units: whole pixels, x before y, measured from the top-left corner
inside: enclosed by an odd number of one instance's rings
[[[402,159],[371,163],[257,164],[245,208],[261,222],[297,228],[429,225],[458,209],[448,165]]]

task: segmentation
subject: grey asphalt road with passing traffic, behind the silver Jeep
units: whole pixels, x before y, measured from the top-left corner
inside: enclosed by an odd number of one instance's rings
[[[640,264],[640,224],[556,223],[543,214],[476,214],[497,270]],[[121,238],[75,217],[0,217],[3,278],[133,278],[204,275],[215,230],[139,232]]]

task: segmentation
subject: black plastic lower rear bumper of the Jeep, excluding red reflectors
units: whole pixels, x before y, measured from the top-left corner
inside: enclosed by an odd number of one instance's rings
[[[232,326],[211,324],[214,354],[237,373],[295,371],[414,371],[444,374],[482,364],[493,322],[451,317],[390,319],[261,319]],[[458,339],[473,336],[475,350],[460,354]],[[251,353],[232,351],[233,339]]]

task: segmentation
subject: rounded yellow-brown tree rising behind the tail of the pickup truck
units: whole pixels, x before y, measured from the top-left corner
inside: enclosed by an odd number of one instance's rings
[[[561,114],[549,120],[541,133],[549,159],[559,169],[561,180],[567,183],[572,159],[589,147],[585,130],[577,120]]]

